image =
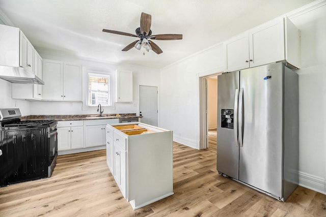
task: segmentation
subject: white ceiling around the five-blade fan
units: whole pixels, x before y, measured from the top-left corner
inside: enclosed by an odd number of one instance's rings
[[[311,2],[313,0],[0,0],[0,13],[12,25],[21,28],[38,51],[160,69]],[[150,51],[144,56],[142,49],[121,51],[135,38],[102,32],[106,28],[134,34],[142,12],[152,15],[153,35],[183,34],[183,40],[156,40],[163,53]]]

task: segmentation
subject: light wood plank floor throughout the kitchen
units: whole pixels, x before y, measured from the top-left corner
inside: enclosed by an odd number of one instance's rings
[[[0,188],[0,216],[326,216],[326,195],[298,187],[280,202],[218,175],[215,152],[173,146],[175,194],[146,207],[131,208],[99,150],[59,156],[52,177]]]

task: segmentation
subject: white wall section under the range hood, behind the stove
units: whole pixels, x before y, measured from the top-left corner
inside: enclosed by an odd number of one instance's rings
[[[11,98],[11,86],[9,81],[0,79],[0,108],[19,108],[21,115],[29,115],[30,102],[25,100],[13,100]]]

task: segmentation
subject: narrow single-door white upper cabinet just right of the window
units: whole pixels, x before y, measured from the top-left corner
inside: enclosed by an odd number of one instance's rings
[[[116,102],[132,102],[132,72],[116,71]]]

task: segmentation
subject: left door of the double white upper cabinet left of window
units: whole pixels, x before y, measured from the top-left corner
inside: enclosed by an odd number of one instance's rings
[[[63,99],[63,63],[43,59],[43,100]]]

